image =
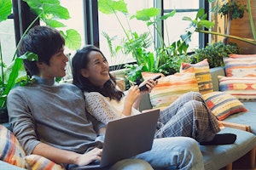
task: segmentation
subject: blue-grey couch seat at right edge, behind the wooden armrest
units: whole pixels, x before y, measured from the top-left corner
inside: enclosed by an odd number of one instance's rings
[[[225,122],[235,122],[243,125],[249,125],[251,127],[251,131],[256,135],[256,110],[255,110],[255,102],[242,102],[243,105],[247,108],[247,112],[233,114],[227,117]]]

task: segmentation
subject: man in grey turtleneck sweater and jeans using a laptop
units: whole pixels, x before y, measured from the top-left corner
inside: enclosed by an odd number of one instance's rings
[[[99,133],[104,134],[105,126],[87,114],[79,88],[55,82],[55,77],[66,74],[64,44],[60,32],[47,26],[35,26],[27,33],[19,53],[38,54],[38,61],[24,61],[36,81],[12,89],[7,105],[13,133],[26,154],[44,156],[69,168],[101,160]],[[134,158],[148,161],[154,169],[203,169],[197,142],[185,137],[155,139],[152,150]],[[133,161],[123,161],[123,167]]]

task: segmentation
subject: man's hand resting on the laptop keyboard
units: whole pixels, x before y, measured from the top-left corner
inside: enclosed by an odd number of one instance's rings
[[[102,159],[102,149],[95,148],[90,150],[89,152],[80,155],[77,160],[77,165],[83,166],[88,165],[92,161],[101,160]]]

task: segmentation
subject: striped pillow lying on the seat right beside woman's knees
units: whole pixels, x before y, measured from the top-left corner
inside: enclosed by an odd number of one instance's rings
[[[247,111],[241,101],[230,94],[224,92],[212,92],[202,95],[207,102],[208,108],[220,121],[223,121],[231,114]]]

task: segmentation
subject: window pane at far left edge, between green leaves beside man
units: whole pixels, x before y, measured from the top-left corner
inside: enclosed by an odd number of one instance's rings
[[[0,42],[2,46],[3,62],[9,65],[15,54],[15,24],[13,19],[0,23]]]

